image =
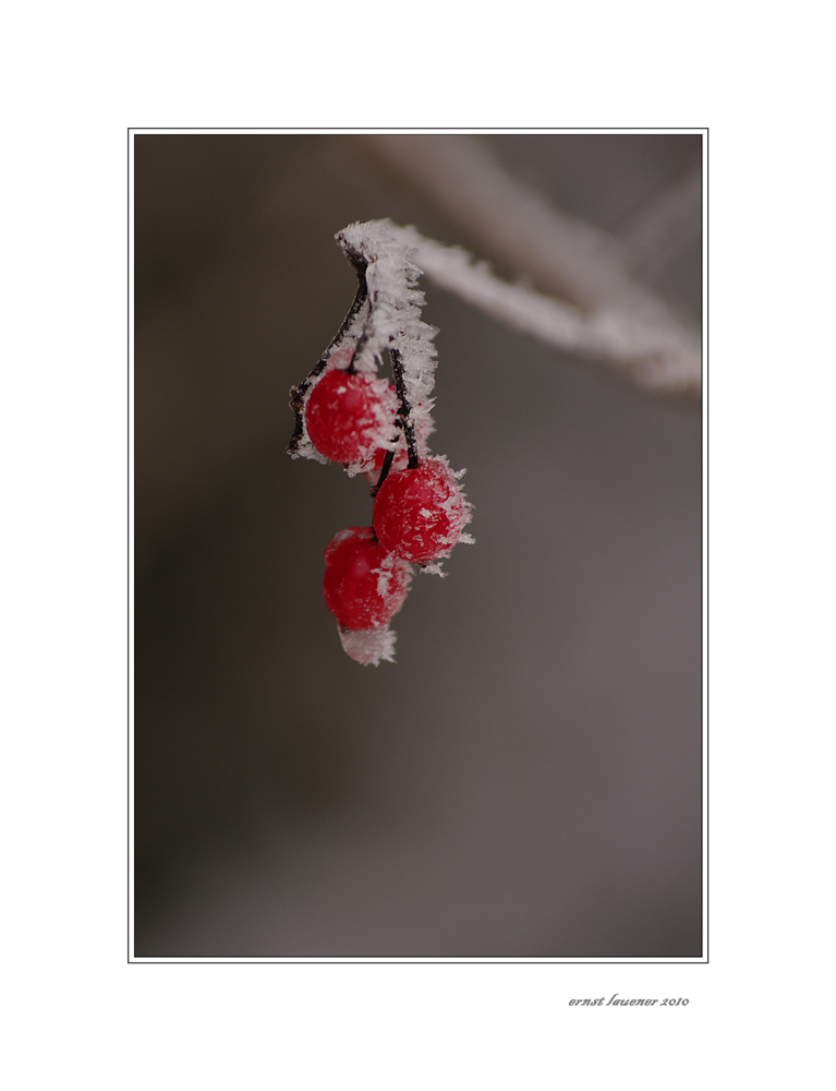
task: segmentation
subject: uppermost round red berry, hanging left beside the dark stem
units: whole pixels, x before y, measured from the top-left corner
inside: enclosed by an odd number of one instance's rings
[[[305,427],[320,455],[350,466],[391,441],[397,412],[398,399],[386,380],[335,368],[311,392]]]

